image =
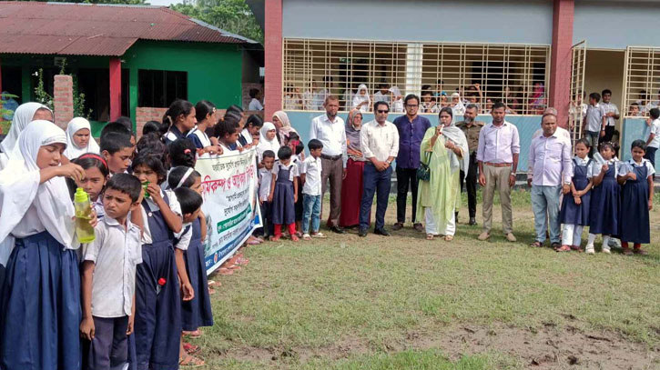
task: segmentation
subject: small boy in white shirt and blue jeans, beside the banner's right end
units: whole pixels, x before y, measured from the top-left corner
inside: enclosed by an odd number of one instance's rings
[[[326,237],[319,232],[320,228],[320,204],[321,204],[321,182],[320,152],[323,144],[320,140],[311,139],[307,145],[310,148],[310,156],[305,158],[300,169],[300,180],[302,185],[302,239],[310,240],[312,237]],[[311,218],[311,235],[310,235]]]

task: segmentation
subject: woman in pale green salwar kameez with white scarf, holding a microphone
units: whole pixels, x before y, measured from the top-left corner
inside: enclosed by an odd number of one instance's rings
[[[452,122],[452,108],[442,108],[440,125],[426,130],[420,145],[421,162],[429,165],[431,178],[420,180],[417,219],[425,220],[426,238],[444,235],[452,241],[456,232],[455,211],[461,206],[462,169],[469,165],[468,142]]]

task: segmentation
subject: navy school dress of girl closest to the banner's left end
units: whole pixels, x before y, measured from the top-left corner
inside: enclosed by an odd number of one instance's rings
[[[192,227],[192,238],[190,238],[188,250],[184,254],[184,260],[195,297],[190,301],[183,301],[181,322],[183,330],[194,332],[199,326],[213,326],[213,313],[211,312],[211,298],[208,295],[207,269],[204,264],[204,245],[202,245],[199,219],[195,219],[189,227]]]

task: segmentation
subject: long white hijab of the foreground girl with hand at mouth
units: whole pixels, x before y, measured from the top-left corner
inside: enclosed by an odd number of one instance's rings
[[[75,215],[64,177],[53,177],[43,184],[36,155],[44,145],[66,145],[65,132],[49,121],[31,122],[18,136],[9,162],[0,171],[0,263],[5,265],[14,249],[12,230],[23,219],[30,205],[36,206],[39,221],[48,234],[71,249]]]

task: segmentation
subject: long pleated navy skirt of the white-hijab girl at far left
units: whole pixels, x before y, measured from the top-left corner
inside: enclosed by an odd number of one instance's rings
[[[64,249],[47,232],[16,239],[0,299],[0,367],[80,369],[76,251]]]

